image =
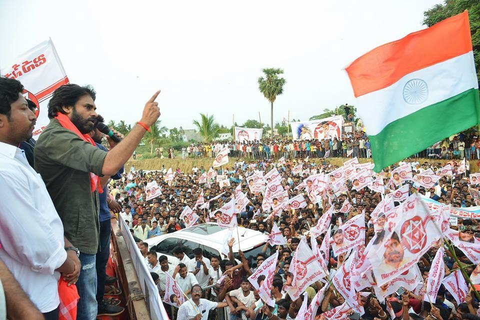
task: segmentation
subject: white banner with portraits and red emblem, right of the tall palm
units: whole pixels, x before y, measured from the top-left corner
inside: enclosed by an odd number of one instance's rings
[[[334,115],[320,120],[290,122],[293,140],[321,140],[341,137],[343,116]]]

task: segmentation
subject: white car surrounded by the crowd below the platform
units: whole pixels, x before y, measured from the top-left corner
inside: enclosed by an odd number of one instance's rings
[[[158,252],[158,255],[166,255],[168,262],[175,266],[178,259],[173,255],[173,248],[181,246],[183,252],[190,258],[193,258],[193,249],[200,247],[203,250],[203,256],[208,259],[212,255],[220,255],[227,237],[231,231],[218,226],[217,223],[207,222],[181,229],[172,233],[166,233],[146,239],[148,250]],[[233,229],[231,237],[235,238],[232,246],[233,254],[238,259],[238,236],[240,238],[240,249],[245,255],[250,267],[256,267],[256,255],[262,252],[266,241],[266,234],[259,231],[238,227],[238,235]],[[272,248],[274,250],[275,248]],[[228,250],[228,247],[227,247]],[[265,254],[270,255],[270,247]],[[227,258],[221,254],[221,258]],[[252,265],[253,264],[253,265]]]

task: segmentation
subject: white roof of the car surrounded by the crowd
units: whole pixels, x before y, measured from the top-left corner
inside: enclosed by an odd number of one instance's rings
[[[152,246],[165,238],[178,237],[198,242],[221,251],[230,232],[231,237],[235,238],[235,243],[232,247],[233,252],[238,252],[238,237],[240,238],[240,249],[242,251],[249,250],[259,244],[265,243],[265,234],[259,231],[239,226],[237,234],[235,229],[228,230],[221,228],[216,222],[197,224],[172,233],[148,238],[144,242],[147,242],[149,246]]]

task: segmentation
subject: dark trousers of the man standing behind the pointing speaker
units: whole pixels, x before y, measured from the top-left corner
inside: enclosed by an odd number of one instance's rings
[[[105,278],[106,278],[106,263],[108,262],[108,256],[110,256],[110,233],[111,224],[110,220],[100,222],[100,232],[98,235],[100,241],[100,251],[96,253],[96,301],[98,304],[103,300],[103,293],[105,291]]]

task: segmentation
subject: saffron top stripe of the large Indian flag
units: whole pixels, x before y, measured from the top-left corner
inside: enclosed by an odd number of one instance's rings
[[[345,68],[355,97],[387,87],[405,74],[471,51],[468,13],[380,45]]]

